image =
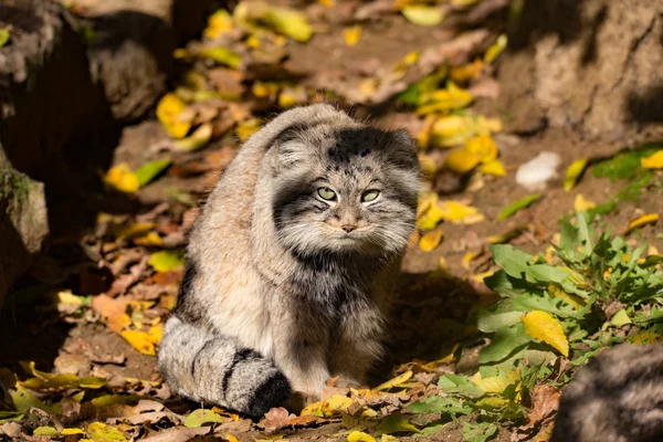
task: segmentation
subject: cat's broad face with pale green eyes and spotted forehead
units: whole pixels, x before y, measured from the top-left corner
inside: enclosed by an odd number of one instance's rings
[[[278,143],[273,213],[287,249],[301,255],[404,251],[420,173],[404,133],[320,125]]]

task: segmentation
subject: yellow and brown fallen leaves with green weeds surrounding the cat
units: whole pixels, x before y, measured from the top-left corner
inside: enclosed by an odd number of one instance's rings
[[[456,260],[464,277],[450,273],[452,255],[441,256],[453,239],[449,231],[483,229],[494,219],[511,222],[528,213],[530,204],[545,203],[534,194],[493,215],[475,198],[484,187],[513,180],[509,171],[517,166],[503,162],[508,157],[503,159],[497,140],[502,120],[474,109],[495,96],[495,91],[481,91],[494,81],[492,64],[507,45],[504,34],[483,29],[455,33],[449,41],[427,42],[393,64],[365,65],[333,82],[325,69],[304,81],[290,63],[297,45],[314,44],[318,35],[333,33],[336,44],[349,50],[368,44],[373,32],[362,19],[368,7],[378,20],[398,15],[410,25],[442,29],[481,2],[407,1],[383,8],[376,1],[344,9],[344,2],[320,1],[320,12],[315,6],[299,10],[242,1],[232,11],[212,13],[202,39],[173,53],[189,71],[157,105],[162,138],[145,146],[147,156],[140,161],[116,161],[101,173],[109,194],[141,198],[157,188],[164,193],[161,203],[139,214],[101,213],[94,234],[81,245],[92,256],[94,272],[83,273],[73,263],[66,275],[77,283],[63,286],[60,280],[50,286],[61,319],[99,325],[125,343],[126,355],[113,349],[99,354],[70,341],[69,359],[61,355],[53,372],[38,370],[32,361],[3,368],[0,432],[29,440],[213,434],[227,441],[323,435],[390,442],[456,431],[466,441],[504,432],[527,440],[549,432],[560,389],[602,348],[663,339],[663,299],[656,290],[663,282],[663,257],[655,248],[636,248],[623,235],[594,233],[594,221],[609,210],[581,193],[573,197],[557,236],[522,222],[493,228],[485,238],[467,235]],[[340,19],[329,19],[325,10]],[[381,373],[381,382],[355,389],[330,380],[330,394],[299,415],[280,408],[253,422],[232,410],[172,397],[155,369],[133,376],[129,362],[135,358],[155,365],[183,275],[185,233],[198,213],[191,207],[228,166],[238,140],[259,130],[273,112],[298,104],[325,99],[361,106],[392,98],[411,117],[410,133],[427,175],[413,241],[418,250],[411,253],[420,250],[436,264],[410,281],[398,301],[399,343],[389,347],[392,369]],[[579,158],[559,187],[573,191],[587,169],[597,178],[627,180],[609,201],[608,209],[617,207],[656,182],[655,172],[640,177],[661,168],[660,152],[659,146],[646,146],[602,161]],[[452,197],[435,188],[440,177],[449,176],[461,182]],[[164,189],[169,180],[181,188]],[[657,219],[657,213],[636,212],[621,233],[634,235]],[[545,241],[537,242],[538,236]],[[534,254],[519,249],[528,242],[547,249]],[[83,290],[90,287],[99,290]],[[473,352],[474,368],[463,369]],[[76,366],[80,359],[85,364]]]

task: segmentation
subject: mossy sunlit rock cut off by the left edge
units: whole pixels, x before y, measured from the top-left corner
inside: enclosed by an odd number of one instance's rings
[[[44,186],[18,172],[0,146],[0,307],[49,233]]]

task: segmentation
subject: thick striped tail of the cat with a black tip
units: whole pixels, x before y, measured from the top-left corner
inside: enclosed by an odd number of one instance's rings
[[[177,316],[166,323],[158,365],[175,393],[254,419],[283,407],[292,392],[285,375],[257,351]]]

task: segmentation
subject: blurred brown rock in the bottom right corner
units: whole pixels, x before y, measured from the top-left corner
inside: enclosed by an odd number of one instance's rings
[[[552,442],[663,441],[663,344],[622,344],[564,390]]]

